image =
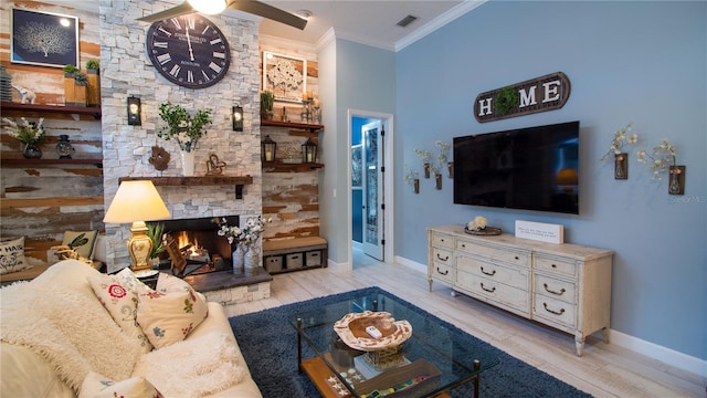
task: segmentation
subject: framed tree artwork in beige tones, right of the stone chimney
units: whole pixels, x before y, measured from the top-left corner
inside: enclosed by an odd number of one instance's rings
[[[307,60],[263,52],[263,90],[276,101],[302,103],[307,92]]]

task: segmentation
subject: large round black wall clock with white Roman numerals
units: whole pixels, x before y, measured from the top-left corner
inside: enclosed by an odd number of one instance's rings
[[[162,76],[189,88],[215,84],[231,64],[229,41],[197,13],[152,23],[147,31],[147,54]]]

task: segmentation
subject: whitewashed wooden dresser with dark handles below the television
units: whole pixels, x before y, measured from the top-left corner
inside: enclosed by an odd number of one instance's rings
[[[428,229],[428,280],[574,335],[609,343],[613,252],[578,244],[472,235],[462,226]]]

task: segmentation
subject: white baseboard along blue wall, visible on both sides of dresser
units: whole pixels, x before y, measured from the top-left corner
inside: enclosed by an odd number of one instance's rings
[[[395,263],[410,268],[414,271],[419,271],[423,274],[428,273],[428,265],[399,255],[395,255]],[[659,360],[677,369],[707,378],[707,360],[689,356],[614,329],[611,329],[610,337],[611,344],[631,349],[632,352]]]

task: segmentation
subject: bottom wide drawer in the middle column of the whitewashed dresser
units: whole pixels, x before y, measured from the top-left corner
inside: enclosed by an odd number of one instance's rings
[[[527,290],[513,287],[473,273],[456,272],[456,286],[469,292],[472,295],[481,295],[503,303],[528,316],[529,294]]]

